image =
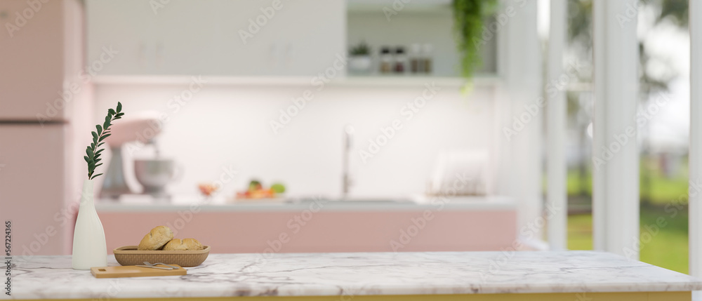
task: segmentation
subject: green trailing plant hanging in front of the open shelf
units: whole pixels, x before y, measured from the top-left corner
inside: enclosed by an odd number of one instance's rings
[[[461,55],[461,75],[470,79],[479,67],[483,18],[494,11],[496,0],[453,0],[453,28]]]

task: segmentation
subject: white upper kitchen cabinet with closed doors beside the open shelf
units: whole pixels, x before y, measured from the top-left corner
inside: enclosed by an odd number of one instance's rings
[[[346,52],[343,0],[88,0],[86,6],[88,62],[110,46],[118,51],[99,75],[311,76]]]

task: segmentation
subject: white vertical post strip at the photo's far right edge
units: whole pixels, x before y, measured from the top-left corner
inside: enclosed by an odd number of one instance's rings
[[[690,26],[690,153],[689,182],[702,179],[702,3],[689,1]],[[702,192],[689,187],[690,275],[702,276]]]

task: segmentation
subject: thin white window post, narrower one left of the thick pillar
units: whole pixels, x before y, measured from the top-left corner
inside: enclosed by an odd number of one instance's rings
[[[567,0],[551,0],[550,29],[548,38],[548,83],[557,83],[564,75],[563,48],[566,44]],[[546,207],[548,220],[548,245],[551,250],[568,248],[568,192],[566,166],[566,116],[565,91],[547,91],[546,107]]]

